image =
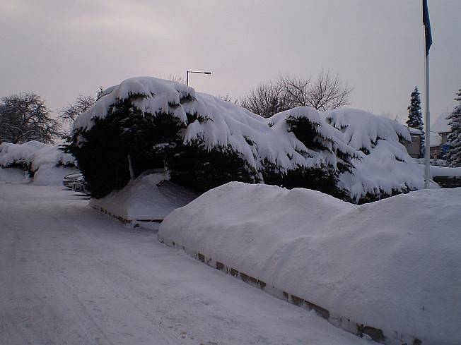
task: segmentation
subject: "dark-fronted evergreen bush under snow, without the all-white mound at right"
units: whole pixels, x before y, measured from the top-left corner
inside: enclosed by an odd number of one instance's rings
[[[98,198],[161,167],[198,192],[228,181],[283,184],[305,171],[318,183],[304,178],[302,186],[335,193],[354,150],[324,122],[310,108],[267,120],[180,83],[132,78],[78,117],[69,151]]]

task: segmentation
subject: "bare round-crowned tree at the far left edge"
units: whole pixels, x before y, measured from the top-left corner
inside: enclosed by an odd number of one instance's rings
[[[45,102],[34,93],[21,92],[1,98],[0,143],[38,140],[52,143],[59,135],[59,123],[49,116]]]

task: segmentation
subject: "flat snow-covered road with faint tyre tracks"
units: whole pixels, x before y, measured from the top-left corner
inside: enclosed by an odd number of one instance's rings
[[[370,344],[62,188],[0,182],[0,344]]]

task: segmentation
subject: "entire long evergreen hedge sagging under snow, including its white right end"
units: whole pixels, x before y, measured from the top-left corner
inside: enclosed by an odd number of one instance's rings
[[[105,90],[78,117],[69,152],[97,198],[165,167],[173,182],[200,193],[243,181],[358,202],[421,186],[399,136],[409,138],[404,126],[362,111],[298,107],[264,119],[192,87],[140,77]]]

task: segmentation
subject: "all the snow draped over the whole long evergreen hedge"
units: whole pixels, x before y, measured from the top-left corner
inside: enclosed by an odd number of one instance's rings
[[[130,78],[105,90],[95,106],[78,117],[74,133],[91,130],[95,119],[110,115],[112,106],[124,99],[130,99],[144,113],[170,114],[185,123],[184,143],[199,141],[209,150],[230,147],[259,172],[267,162],[281,174],[300,166],[337,169],[341,162],[338,151],[349,153],[356,157],[356,171],[340,179],[354,200],[367,193],[390,194],[424,186],[423,174],[399,143],[399,137],[410,140],[409,131],[397,121],[357,109],[322,112],[309,107],[263,119],[231,102],[195,92],[192,87],[153,77]],[[194,115],[190,122],[187,115]],[[327,150],[305,147],[289,131],[289,118],[314,123],[318,133],[315,140]],[[365,155],[363,149],[370,154]]]

